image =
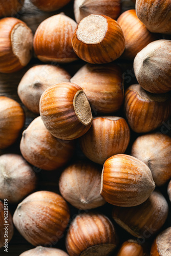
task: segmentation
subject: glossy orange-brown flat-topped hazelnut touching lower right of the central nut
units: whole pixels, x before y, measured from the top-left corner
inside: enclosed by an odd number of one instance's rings
[[[114,116],[94,118],[90,130],[79,139],[84,155],[99,164],[123,154],[129,142],[130,129],[125,119]]]

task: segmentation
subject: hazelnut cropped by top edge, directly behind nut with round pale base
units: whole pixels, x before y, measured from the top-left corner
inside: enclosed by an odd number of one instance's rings
[[[74,15],[76,22],[90,14],[103,14],[116,19],[121,12],[120,0],[75,0]]]

